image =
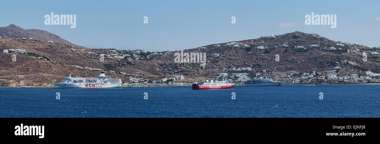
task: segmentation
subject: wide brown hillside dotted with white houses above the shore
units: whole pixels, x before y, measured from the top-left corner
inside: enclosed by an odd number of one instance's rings
[[[379,82],[380,47],[342,43],[302,32],[184,50],[206,53],[204,67],[199,63],[175,63],[174,53],[180,51],[175,49],[88,49],[19,37],[0,38],[1,86],[50,85],[71,73],[94,76],[100,71],[122,79],[124,86],[190,85],[203,78],[241,84],[260,77],[286,84]],[[11,61],[13,54],[17,62]]]

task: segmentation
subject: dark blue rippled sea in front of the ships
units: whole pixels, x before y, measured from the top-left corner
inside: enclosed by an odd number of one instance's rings
[[[379,87],[0,88],[0,117],[380,117]]]

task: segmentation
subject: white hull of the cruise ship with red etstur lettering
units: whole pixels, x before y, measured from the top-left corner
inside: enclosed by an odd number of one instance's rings
[[[83,83],[83,84],[69,84],[69,83],[54,83],[57,88],[117,88],[121,84],[96,84],[96,83]]]

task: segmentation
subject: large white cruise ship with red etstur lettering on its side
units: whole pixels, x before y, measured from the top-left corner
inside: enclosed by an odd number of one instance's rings
[[[111,88],[111,87],[121,87],[121,79],[111,79],[104,74],[102,71],[99,76],[95,78],[81,78],[69,77],[63,79],[63,82],[54,83],[57,88]]]

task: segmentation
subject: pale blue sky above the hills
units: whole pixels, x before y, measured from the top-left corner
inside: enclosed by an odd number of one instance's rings
[[[380,46],[378,0],[7,0],[1,5],[0,27],[46,30],[89,48],[167,51],[294,31]],[[76,28],[45,25],[51,12],[76,14]],[[336,28],[305,25],[312,12],[336,14]]]

